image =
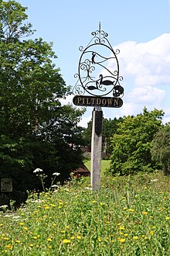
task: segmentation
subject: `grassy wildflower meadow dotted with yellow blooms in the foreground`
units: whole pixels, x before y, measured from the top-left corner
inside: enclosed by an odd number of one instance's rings
[[[82,178],[0,214],[1,255],[170,255],[170,177]]]

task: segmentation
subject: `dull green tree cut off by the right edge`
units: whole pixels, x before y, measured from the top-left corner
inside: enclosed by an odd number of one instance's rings
[[[162,166],[165,175],[170,174],[170,124],[167,123],[155,134],[151,143],[151,156]]]

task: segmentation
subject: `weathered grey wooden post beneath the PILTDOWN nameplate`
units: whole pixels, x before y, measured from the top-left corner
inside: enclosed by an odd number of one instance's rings
[[[95,106],[91,137],[91,187],[93,191],[100,189],[102,114],[101,107]]]

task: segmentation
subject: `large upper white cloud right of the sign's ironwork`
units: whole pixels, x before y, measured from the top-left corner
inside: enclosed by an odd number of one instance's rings
[[[135,86],[156,86],[170,83],[170,34],[165,33],[146,43],[128,41],[120,49],[119,65],[125,79]]]

